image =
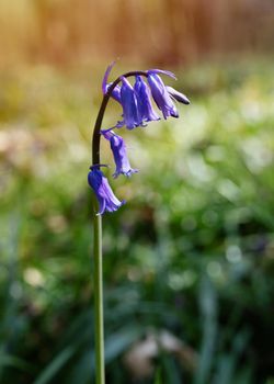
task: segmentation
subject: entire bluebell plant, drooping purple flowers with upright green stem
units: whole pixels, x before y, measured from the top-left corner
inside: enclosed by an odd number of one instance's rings
[[[88,174],[88,181],[93,190],[93,256],[94,256],[94,318],[95,318],[95,376],[96,384],[104,384],[104,327],[103,327],[103,278],[102,278],[102,215],[105,212],[117,211],[125,202],[119,201],[113,193],[111,185],[100,170],[100,142],[103,135],[110,140],[116,170],[118,174],[132,176],[137,170],[129,165],[124,139],[112,132],[113,128],[101,132],[102,121],[110,98],[116,100],[123,108],[123,121],[116,127],[126,126],[128,129],[144,126],[146,123],[159,120],[155,112],[151,98],[162,112],[163,117],[178,117],[179,113],[174,102],[189,104],[189,99],[171,87],[167,87],[160,75],[174,78],[170,71],[150,69],[147,71],[130,71],[118,77],[113,82],[107,82],[110,71],[114,64],[107,67],[103,83],[103,100],[95,121],[92,137],[92,166]],[[127,80],[135,77],[133,87]],[[141,78],[147,78],[147,82]],[[122,83],[122,84],[119,84]]]

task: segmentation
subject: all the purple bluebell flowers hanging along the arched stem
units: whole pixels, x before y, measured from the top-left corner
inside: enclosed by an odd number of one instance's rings
[[[107,82],[113,65],[114,63],[105,71],[102,91],[104,97],[111,97],[121,104],[123,109],[122,121],[118,121],[113,128],[102,129],[101,135],[110,142],[116,166],[113,177],[117,178],[119,174],[130,177],[137,170],[132,168],[129,163],[123,137],[114,133],[113,129],[123,126],[127,129],[134,129],[136,127],[144,127],[149,122],[160,120],[160,116],[155,110],[153,102],[161,111],[164,120],[168,117],[179,117],[175,102],[187,105],[190,104],[190,100],[185,94],[164,84],[160,75],[175,79],[175,76],[168,70],[149,69],[147,71],[129,72],[121,76],[115,81],[115,84]],[[134,86],[127,80],[129,76],[135,77]],[[114,195],[100,167],[101,165],[92,166],[88,176],[88,182],[93,189],[99,202],[99,215],[104,212],[117,211],[125,203],[125,201],[121,202]]]

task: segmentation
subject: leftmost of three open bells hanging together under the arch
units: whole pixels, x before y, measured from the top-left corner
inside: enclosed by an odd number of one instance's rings
[[[136,126],[142,125],[138,111],[138,100],[130,82],[125,77],[122,77],[121,80],[121,103],[123,106],[124,124],[128,129],[133,129]]]

